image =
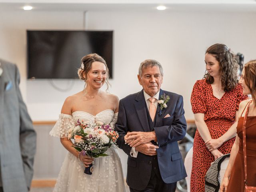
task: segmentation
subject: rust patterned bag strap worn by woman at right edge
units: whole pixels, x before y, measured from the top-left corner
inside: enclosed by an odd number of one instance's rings
[[[250,102],[252,102],[252,100],[251,100]],[[244,123],[243,123],[244,183],[245,183],[244,192],[256,192],[256,187],[247,186],[246,134],[245,134],[245,125],[246,125],[247,115],[248,115],[248,111],[249,111],[249,107],[250,107],[250,102],[249,102],[249,104],[248,104],[246,113],[245,113],[245,115],[244,115]]]

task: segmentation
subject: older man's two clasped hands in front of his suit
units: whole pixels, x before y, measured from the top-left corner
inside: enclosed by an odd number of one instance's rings
[[[135,150],[145,155],[156,155],[157,145],[151,143],[152,140],[156,140],[156,133],[152,132],[127,132],[124,136],[124,141],[131,147],[135,147]]]

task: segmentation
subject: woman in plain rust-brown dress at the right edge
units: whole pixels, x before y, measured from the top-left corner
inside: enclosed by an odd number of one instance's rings
[[[239,80],[243,94],[252,94],[252,102],[240,103],[236,141],[232,147],[228,167],[220,185],[221,192],[244,192],[244,152],[243,122],[246,109],[249,107],[246,121],[246,164],[247,185],[256,186],[256,60],[245,64]]]

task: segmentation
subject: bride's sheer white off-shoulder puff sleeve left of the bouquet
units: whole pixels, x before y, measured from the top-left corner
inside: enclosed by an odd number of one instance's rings
[[[71,115],[60,114],[59,119],[50,131],[50,136],[65,138],[68,137],[68,130],[74,128],[75,123]]]

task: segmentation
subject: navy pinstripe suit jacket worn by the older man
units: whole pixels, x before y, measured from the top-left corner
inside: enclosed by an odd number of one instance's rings
[[[165,183],[173,183],[186,177],[177,142],[184,138],[186,134],[186,119],[184,117],[182,96],[161,89],[159,96],[164,93],[170,96],[170,100],[167,103],[167,108],[162,110],[161,116],[158,114],[160,106],[157,107],[154,130],[159,148],[156,151],[162,180]],[[170,117],[164,118],[167,114]],[[126,182],[133,189],[144,190],[150,180],[152,171],[150,161],[154,156],[139,152],[137,158],[134,158],[130,156],[131,147],[124,142],[124,136],[128,131],[151,131],[143,90],[120,100],[115,129],[119,133],[118,146],[128,154]]]

